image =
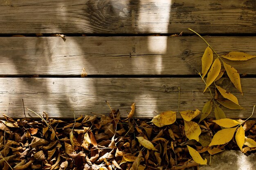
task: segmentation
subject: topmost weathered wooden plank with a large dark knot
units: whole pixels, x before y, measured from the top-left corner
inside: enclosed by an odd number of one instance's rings
[[[256,33],[255,12],[255,0],[0,0],[0,33]]]

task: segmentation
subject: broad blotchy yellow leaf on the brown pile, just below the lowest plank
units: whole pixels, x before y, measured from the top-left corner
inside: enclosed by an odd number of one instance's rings
[[[189,140],[195,139],[196,141],[199,141],[201,129],[197,123],[195,123],[194,121],[184,120],[184,131],[186,137],[189,138]]]

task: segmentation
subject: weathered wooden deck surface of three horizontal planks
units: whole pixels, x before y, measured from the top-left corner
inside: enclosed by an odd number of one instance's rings
[[[71,118],[72,109],[108,114],[108,100],[123,117],[135,102],[135,117],[152,118],[177,110],[178,87],[180,110],[202,110],[211,98],[198,76],[207,44],[189,27],[220,55],[256,55],[256,0],[0,0],[0,117],[23,118],[24,99],[50,117]],[[219,82],[245,109],[222,108],[247,118],[256,104],[256,58],[225,62],[247,75],[244,96]]]

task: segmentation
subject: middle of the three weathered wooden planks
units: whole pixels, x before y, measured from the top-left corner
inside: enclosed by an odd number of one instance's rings
[[[221,55],[256,55],[255,37],[204,37]],[[0,75],[194,75],[207,45],[199,37],[0,38]],[[225,62],[256,74],[256,58]]]

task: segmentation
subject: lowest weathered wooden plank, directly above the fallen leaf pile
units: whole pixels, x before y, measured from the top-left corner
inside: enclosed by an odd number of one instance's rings
[[[229,118],[247,118],[256,101],[256,78],[242,79],[243,94],[236,91],[228,79],[220,84],[238,97],[245,110],[223,109]],[[198,108],[211,99],[202,93],[204,84],[200,78],[0,78],[0,113],[22,118],[23,106],[37,113],[43,111],[50,117],[71,118],[76,116],[109,113],[105,103],[112,109],[120,109],[123,117],[136,103],[135,117],[152,118],[156,113],[177,110],[178,87],[180,87],[180,110]],[[28,110],[26,113],[36,117]],[[180,118],[180,115],[177,115]],[[211,114],[210,117],[213,117]],[[253,118],[256,118],[254,114]]]

